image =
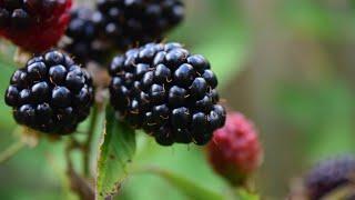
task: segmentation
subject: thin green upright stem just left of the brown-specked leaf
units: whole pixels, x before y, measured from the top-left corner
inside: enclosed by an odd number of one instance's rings
[[[98,124],[98,116],[99,116],[99,106],[97,103],[94,103],[93,108],[92,108],[92,116],[90,119],[90,126],[89,126],[89,130],[88,130],[88,138],[87,141],[84,143],[84,151],[83,151],[83,168],[84,168],[84,176],[89,177],[90,176],[90,166],[91,166],[91,160],[90,160],[90,156],[92,153],[92,142],[93,142],[93,134],[94,131],[97,129],[97,124]]]

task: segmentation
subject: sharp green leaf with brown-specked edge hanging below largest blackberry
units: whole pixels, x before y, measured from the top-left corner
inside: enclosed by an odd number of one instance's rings
[[[106,108],[106,122],[99,150],[97,199],[113,196],[128,177],[126,167],[135,152],[135,132],[115,119],[111,107]]]

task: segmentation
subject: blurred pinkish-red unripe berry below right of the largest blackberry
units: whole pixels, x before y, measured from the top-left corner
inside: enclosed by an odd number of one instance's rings
[[[242,113],[227,113],[225,126],[207,146],[214,170],[234,184],[244,183],[260,166],[262,148],[256,130]]]

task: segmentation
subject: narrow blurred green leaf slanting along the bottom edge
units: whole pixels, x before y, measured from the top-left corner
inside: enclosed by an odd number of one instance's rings
[[[203,199],[203,200],[221,200],[224,197],[220,193],[215,193],[210,191],[195,182],[175,174],[171,171],[158,169],[158,168],[150,168],[148,172],[155,173],[161,178],[165,179],[170,184],[179,189],[182,193],[184,193],[190,199]]]

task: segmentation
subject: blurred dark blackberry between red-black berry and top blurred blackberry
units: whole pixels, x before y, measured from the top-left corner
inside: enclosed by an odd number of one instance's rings
[[[100,37],[100,30],[92,20],[94,11],[89,8],[77,8],[71,12],[67,29],[70,41],[63,49],[80,63],[95,61],[104,64],[111,53],[110,42]]]

